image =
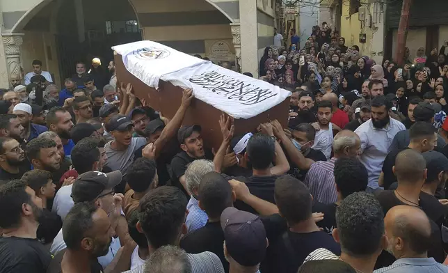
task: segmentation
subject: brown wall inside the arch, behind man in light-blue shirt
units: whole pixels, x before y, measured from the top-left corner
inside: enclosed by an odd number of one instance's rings
[[[61,86],[54,35],[40,31],[23,31],[23,33],[25,35],[23,36],[21,63],[25,72],[33,71],[31,63],[38,59],[42,61],[42,70],[49,71],[56,81],[55,84]]]

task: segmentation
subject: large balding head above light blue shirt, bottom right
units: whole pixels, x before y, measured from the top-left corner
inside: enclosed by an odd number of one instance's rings
[[[423,210],[397,205],[387,212],[384,223],[389,248],[395,256],[404,252],[423,254],[431,247],[431,223]]]

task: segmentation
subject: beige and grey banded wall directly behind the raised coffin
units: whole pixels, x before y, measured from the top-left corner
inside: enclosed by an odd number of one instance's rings
[[[137,11],[143,38],[154,40],[188,54],[208,56],[210,47],[221,40],[234,60],[230,20],[205,0],[131,0]]]

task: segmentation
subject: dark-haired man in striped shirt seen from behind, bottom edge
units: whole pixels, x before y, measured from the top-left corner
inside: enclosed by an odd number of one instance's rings
[[[186,232],[186,203],[185,194],[177,187],[158,187],[141,198],[136,227],[145,234],[150,254],[166,245],[179,246],[179,238]],[[223,264],[214,253],[205,251],[186,256],[192,273],[224,273]],[[144,273],[145,265],[126,272]]]

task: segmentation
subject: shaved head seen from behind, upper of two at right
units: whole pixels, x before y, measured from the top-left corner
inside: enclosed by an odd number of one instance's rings
[[[393,170],[399,185],[422,187],[426,180],[426,161],[422,154],[412,149],[403,150],[397,155]]]

